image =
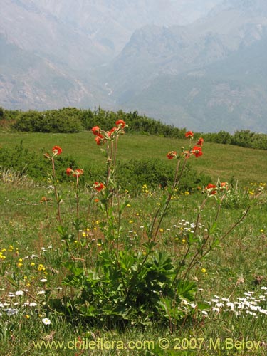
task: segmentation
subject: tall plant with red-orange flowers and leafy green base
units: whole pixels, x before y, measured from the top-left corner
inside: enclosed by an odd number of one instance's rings
[[[71,293],[57,302],[51,300],[50,307],[59,308],[61,312],[70,315],[72,320],[83,317],[90,325],[112,327],[127,323],[145,325],[157,321],[168,323],[170,328],[174,328],[185,318],[195,318],[197,310],[201,309],[201,305],[190,306],[193,305],[190,302],[194,301],[197,285],[190,280],[189,271],[243,221],[248,209],[236,224],[220,233],[217,226],[219,212],[224,198],[231,194],[231,189],[226,182],[208,184],[203,189],[204,201],[198,207],[195,227],[184,236],[182,252],[179,256],[173,256],[162,251],[159,232],[173,194],[179,189],[188,160],[199,159],[203,155],[204,140],[199,138],[194,144],[194,133],[188,131],[186,137],[189,147],[167,153],[168,159],[177,162],[174,180],[155,214],[144,224],[145,242],[131,244],[125,239],[126,219],[123,216],[129,201],[120,193],[115,179],[117,143],[120,135],[125,134],[125,128],[127,125],[124,120],[118,120],[110,131],[104,131],[99,126],[92,128],[96,144],[106,148],[106,176],[92,187],[93,196],[97,196],[95,201],[98,201],[96,209],[100,209],[97,211],[102,216],[99,223],[100,241],[98,248],[86,244],[83,248],[71,250],[67,244],[70,258],[64,264],[68,276],[63,284],[71,287]],[[77,179],[79,177],[73,170],[67,169],[67,173]],[[201,232],[198,228],[201,212],[211,199],[218,203],[214,223]],[[180,209],[182,212],[183,206]],[[209,214],[209,210],[205,214]],[[76,226],[76,234],[79,234],[79,224]],[[62,239],[71,242],[75,236],[69,230],[70,226],[58,228]],[[75,241],[77,243],[80,240]]]

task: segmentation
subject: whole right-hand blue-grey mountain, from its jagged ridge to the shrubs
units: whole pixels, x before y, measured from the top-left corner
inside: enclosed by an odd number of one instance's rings
[[[110,99],[193,130],[267,132],[266,4],[227,0],[188,26],[135,31],[102,71]]]

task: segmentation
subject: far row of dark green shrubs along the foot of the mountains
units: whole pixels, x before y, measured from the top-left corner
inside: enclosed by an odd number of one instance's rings
[[[161,137],[184,138],[186,128],[166,125],[159,120],[154,120],[146,115],[134,112],[117,112],[103,110],[102,108],[77,109],[63,108],[59,110],[46,110],[38,112],[29,110],[5,110],[0,107],[0,129],[16,130],[19,132],[51,132],[75,133],[90,130],[95,125],[100,125],[103,130],[109,130],[116,120],[127,120],[127,132],[139,132],[142,135],[158,135]],[[241,147],[267,150],[267,135],[251,132],[250,130],[237,130],[231,135],[226,131],[199,132],[199,137],[204,137],[205,142],[215,142]]]

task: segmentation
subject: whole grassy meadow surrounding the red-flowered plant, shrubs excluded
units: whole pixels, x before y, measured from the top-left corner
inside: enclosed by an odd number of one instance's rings
[[[59,145],[63,155],[73,156],[80,167],[92,161],[95,164],[105,161],[90,132],[0,134],[1,147],[14,147],[21,140],[28,150],[36,152],[51,152],[51,147]],[[179,151],[187,144],[186,140],[124,135],[120,137],[118,158],[125,161],[157,158],[165,162],[168,151]],[[170,321],[167,325],[110,328],[104,323],[100,327],[100,323],[89,325],[82,317],[71,320],[47,308],[49,298],[74,293],[71,286],[62,283],[67,273],[63,263],[69,253],[56,231],[53,189],[28,178],[21,182],[1,179],[0,355],[266,355],[266,152],[211,143],[204,145],[203,152],[197,159],[190,158],[197,172],[208,174],[214,182],[218,177],[221,182],[232,177],[239,182],[238,189],[231,188],[228,200],[221,206],[216,234],[224,236],[247,206],[251,209],[246,219],[189,273],[190,280],[197,283],[194,303],[188,307],[194,317],[184,318],[181,323]],[[175,168],[174,162],[168,164]],[[14,172],[5,174],[12,176]],[[76,214],[75,181],[61,189],[63,225],[71,226]],[[80,191],[79,214],[90,231],[86,235],[83,230],[86,239],[98,241],[100,246],[92,243],[89,254],[84,248],[74,251],[77,256],[87,258],[93,268],[103,248],[100,226],[105,214],[97,203],[90,206],[90,194],[88,188]],[[162,204],[163,194],[166,192],[145,187],[140,196],[125,197],[130,201],[122,215],[122,245],[133,241],[132,251],[144,252],[144,226]],[[171,201],[157,236],[157,249],[169,252],[174,261],[184,256],[184,231],[196,223],[198,204],[203,200],[204,194],[197,192],[177,193]],[[206,201],[201,212],[200,235],[204,236],[212,225],[216,206],[214,197]],[[204,313],[197,310],[201,303],[207,305]]]

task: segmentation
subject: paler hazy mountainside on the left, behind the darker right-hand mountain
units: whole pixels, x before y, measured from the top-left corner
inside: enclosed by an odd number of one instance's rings
[[[218,1],[204,0],[202,13]],[[92,70],[115,58],[135,29],[147,23],[170,26],[190,21],[180,14],[186,3],[1,0],[0,105],[43,110],[109,108],[110,102],[113,108],[107,86]]]

